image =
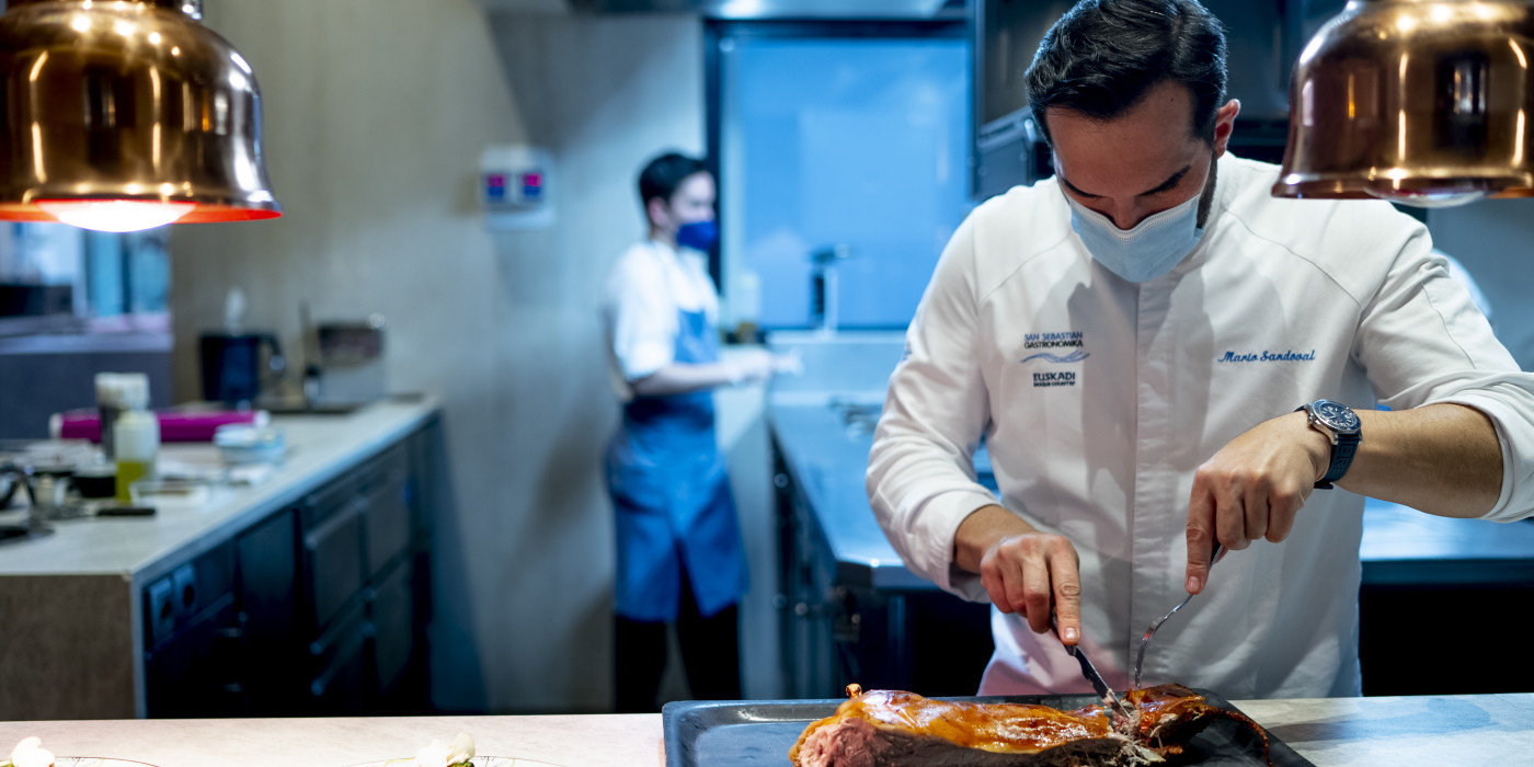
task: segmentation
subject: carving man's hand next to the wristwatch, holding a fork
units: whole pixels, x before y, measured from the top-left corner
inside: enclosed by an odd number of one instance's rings
[[[1187,592],[1209,583],[1215,540],[1241,551],[1255,540],[1287,538],[1330,456],[1327,437],[1304,413],[1290,413],[1247,430],[1198,466],[1187,503]]]

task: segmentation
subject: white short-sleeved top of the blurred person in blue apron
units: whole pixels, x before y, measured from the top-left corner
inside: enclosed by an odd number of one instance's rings
[[[630,380],[673,362],[678,311],[703,311],[710,327],[718,321],[719,298],[704,255],[653,239],[624,250],[603,295],[607,362],[614,391],[624,402],[634,397]]]

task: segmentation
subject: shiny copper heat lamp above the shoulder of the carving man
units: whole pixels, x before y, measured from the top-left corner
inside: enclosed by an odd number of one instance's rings
[[[1531,58],[1528,2],[1350,0],[1295,64],[1273,196],[1534,195]]]

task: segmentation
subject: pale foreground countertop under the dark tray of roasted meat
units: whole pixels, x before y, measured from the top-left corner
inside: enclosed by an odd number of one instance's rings
[[[1233,703],[1318,767],[1534,764],[1534,693]],[[663,764],[658,713],[0,723],[0,749],[35,735],[60,756],[156,767],[342,767],[408,758],[460,730],[491,756],[563,767]]]

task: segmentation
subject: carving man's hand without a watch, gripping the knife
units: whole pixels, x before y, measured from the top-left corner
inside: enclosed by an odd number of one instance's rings
[[[979,572],[997,609],[1026,617],[1034,634],[1049,630],[1054,607],[1060,640],[1080,641],[1080,558],[1065,535],[1040,532],[1002,506],[982,506],[959,525],[954,563]]]

